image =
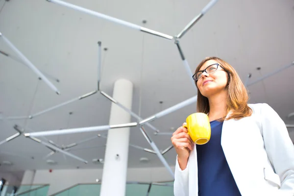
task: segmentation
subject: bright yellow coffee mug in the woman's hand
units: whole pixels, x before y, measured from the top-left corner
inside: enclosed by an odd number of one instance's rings
[[[207,114],[197,112],[191,114],[186,119],[187,125],[184,125],[188,129],[193,142],[197,145],[206,144],[210,140],[211,127]]]

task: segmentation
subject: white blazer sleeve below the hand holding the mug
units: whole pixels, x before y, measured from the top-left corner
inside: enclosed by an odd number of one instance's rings
[[[174,196],[189,196],[189,160],[185,170],[181,170],[176,156],[174,183]]]

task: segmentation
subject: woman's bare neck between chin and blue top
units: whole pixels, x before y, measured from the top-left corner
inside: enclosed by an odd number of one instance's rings
[[[209,120],[214,121],[221,119],[227,112],[227,91],[220,94],[212,95],[208,98],[209,101]]]

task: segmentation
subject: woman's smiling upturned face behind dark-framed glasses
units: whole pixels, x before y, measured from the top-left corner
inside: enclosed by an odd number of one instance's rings
[[[215,63],[219,62],[215,60],[208,60],[200,67],[199,71],[203,71],[208,66]],[[215,95],[221,93],[222,91],[225,91],[227,82],[228,75],[219,65],[218,69],[214,73],[203,72],[201,77],[197,80],[197,87],[201,95],[209,98],[211,95]]]

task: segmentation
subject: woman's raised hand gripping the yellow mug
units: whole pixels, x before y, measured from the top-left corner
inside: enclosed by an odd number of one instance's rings
[[[185,125],[186,123],[183,123]],[[188,135],[188,130],[183,126],[176,129],[172,134],[172,145],[178,155],[178,163],[181,170],[186,169],[190,151],[193,150],[194,142]]]

